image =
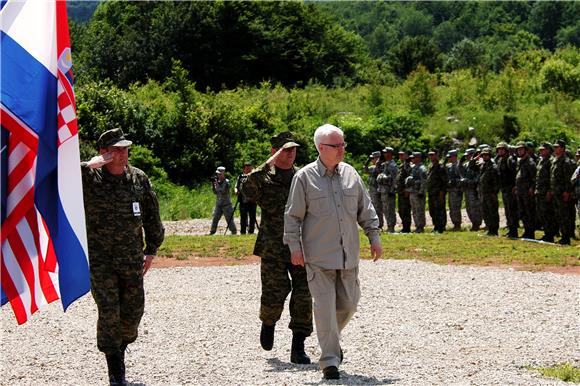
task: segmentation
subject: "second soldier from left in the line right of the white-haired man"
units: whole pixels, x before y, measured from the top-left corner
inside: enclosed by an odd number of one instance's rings
[[[397,192],[397,164],[393,160],[394,150],[392,147],[383,149],[383,163],[381,172],[377,176],[378,190],[381,192],[383,213],[387,220],[387,232],[395,233],[397,223],[396,192]]]

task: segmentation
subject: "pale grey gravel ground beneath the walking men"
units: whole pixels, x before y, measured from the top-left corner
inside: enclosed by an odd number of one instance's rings
[[[362,299],[343,334],[340,381],[289,363],[285,311],[274,350],[258,342],[259,266],[155,269],[132,385],[569,385],[524,368],[580,365],[577,276],[416,261],[361,263]],[[0,312],[0,384],[104,385],[90,295],[17,326]],[[313,335],[306,351],[317,360]]]

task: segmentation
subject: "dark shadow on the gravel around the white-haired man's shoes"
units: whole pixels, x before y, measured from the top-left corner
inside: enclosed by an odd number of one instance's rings
[[[398,379],[378,379],[377,377],[367,377],[365,375],[350,374],[346,371],[340,371],[340,379],[336,381],[325,380],[322,378],[322,371],[318,367],[317,363],[310,365],[295,365],[293,363],[282,362],[278,358],[268,359],[268,364],[272,366],[271,369],[266,370],[269,372],[297,372],[297,371],[314,371],[320,373],[320,382],[305,382],[305,385],[322,385],[322,384],[332,384],[332,385],[392,385],[395,384]]]

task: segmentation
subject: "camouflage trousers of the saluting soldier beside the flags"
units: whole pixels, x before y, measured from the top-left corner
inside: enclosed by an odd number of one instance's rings
[[[137,339],[145,309],[143,256],[131,264],[91,259],[91,294],[98,309],[97,347],[106,355]]]

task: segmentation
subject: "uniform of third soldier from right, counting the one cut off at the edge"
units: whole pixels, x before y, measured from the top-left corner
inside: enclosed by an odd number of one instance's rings
[[[550,168],[552,162],[550,156],[540,157],[536,165],[536,212],[542,227],[544,236],[542,240],[553,242],[556,234],[556,219],[554,218],[554,206],[548,198],[550,191]]]

